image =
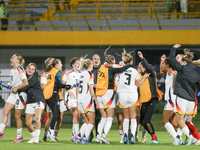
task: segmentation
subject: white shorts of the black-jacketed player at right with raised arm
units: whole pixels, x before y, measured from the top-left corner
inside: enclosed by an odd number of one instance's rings
[[[188,101],[177,96],[175,108],[175,112],[178,112],[180,115],[192,115],[195,112],[196,106],[194,101]]]

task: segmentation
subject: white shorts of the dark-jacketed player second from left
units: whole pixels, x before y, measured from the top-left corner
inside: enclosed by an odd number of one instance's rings
[[[45,103],[43,102],[36,102],[36,103],[31,103],[31,104],[26,104],[26,114],[35,114],[36,109],[38,108],[45,108]]]

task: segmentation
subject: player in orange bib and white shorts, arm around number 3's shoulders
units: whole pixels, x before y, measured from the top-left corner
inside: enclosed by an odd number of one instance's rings
[[[108,50],[108,49],[107,49]],[[108,64],[115,64],[115,57],[112,55],[107,55],[105,51],[104,56],[105,60]],[[106,139],[106,135],[108,134],[111,126],[112,120],[115,114],[115,101],[114,101],[114,91],[116,89],[115,86],[115,73],[122,72],[129,68],[130,66],[125,66],[122,68],[107,68],[105,65],[102,65],[98,72],[97,77],[97,87],[96,87],[96,95],[99,103],[99,109],[101,113],[101,121],[98,125],[98,135],[97,140],[99,143],[104,142],[106,144],[110,144]],[[102,134],[102,130],[104,129],[104,133]]]

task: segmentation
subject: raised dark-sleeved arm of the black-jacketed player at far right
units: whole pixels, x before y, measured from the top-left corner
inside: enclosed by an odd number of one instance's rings
[[[176,49],[181,47],[180,44],[175,44],[169,54],[169,61],[173,67],[173,69],[175,69],[176,71],[180,71],[183,66],[176,60],[175,55],[176,55]]]

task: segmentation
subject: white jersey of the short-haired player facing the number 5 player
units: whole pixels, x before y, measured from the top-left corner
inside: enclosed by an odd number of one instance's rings
[[[80,78],[80,72],[74,72],[74,71],[66,71],[64,76],[63,76],[63,81],[65,81],[65,84],[70,84],[73,86],[74,84],[79,82]],[[70,91],[73,92],[75,98],[76,98],[76,88],[71,89]],[[68,95],[68,93],[65,93],[65,97]]]

